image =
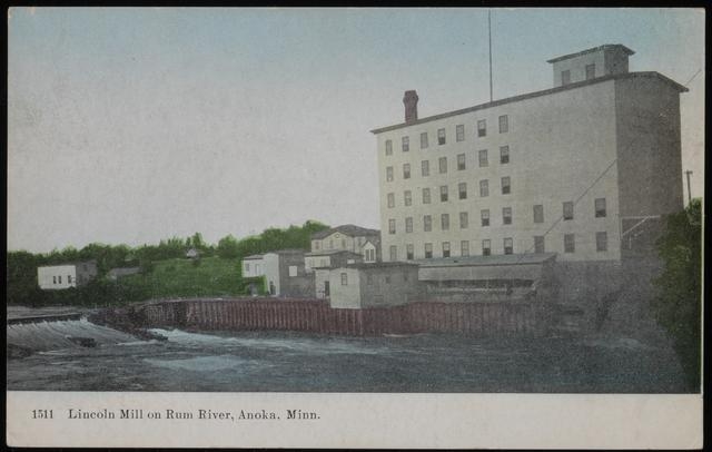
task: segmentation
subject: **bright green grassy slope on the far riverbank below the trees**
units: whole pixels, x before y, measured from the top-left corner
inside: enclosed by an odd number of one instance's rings
[[[244,293],[238,259],[205,257],[195,265],[190,259],[154,263],[149,274],[126,276],[119,284],[146,298],[230,296]]]

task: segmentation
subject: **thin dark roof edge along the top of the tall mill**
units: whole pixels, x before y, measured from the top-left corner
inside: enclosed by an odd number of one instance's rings
[[[629,79],[629,78],[657,78],[657,79],[662,80],[663,82],[665,82],[668,85],[671,85],[673,88],[675,88],[680,92],[688,92],[689,91],[688,88],[683,87],[682,85],[678,83],[676,81],[671,80],[668,77],[665,77],[665,76],[663,76],[662,73],[659,73],[659,72],[650,71],[650,72],[616,73],[616,75],[611,75],[611,76],[596,77],[596,78],[593,78],[591,80],[576,81],[576,82],[568,83],[568,85],[563,85],[563,86],[560,86],[560,87],[544,89],[544,90],[541,90],[541,91],[534,91],[534,92],[527,92],[527,94],[524,94],[524,95],[507,97],[507,98],[495,100],[495,101],[492,101],[492,102],[479,104],[479,105],[476,105],[474,107],[467,107],[467,108],[463,108],[463,109],[459,109],[459,110],[453,110],[453,111],[444,112],[444,114],[441,114],[441,115],[428,116],[426,118],[421,118],[418,120],[411,121],[411,122],[400,122],[400,124],[396,124],[396,125],[393,125],[393,126],[380,127],[380,128],[370,130],[370,132],[372,134],[382,134],[384,131],[402,129],[404,127],[416,126],[416,125],[419,125],[419,124],[425,124],[425,122],[434,121],[434,120],[437,120],[437,119],[445,119],[445,118],[449,118],[452,116],[464,115],[464,114],[468,114],[468,112],[472,112],[472,111],[484,110],[484,109],[492,108],[492,107],[498,107],[498,106],[505,105],[505,104],[518,102],[520,100],[526,100],[526,99],[531,99],[531,98],[535,98],[535,97],[540,97],[540,96],[551,95],[551,94],[554,94],[554,92],[566,91],[568,89],[576,89],[576,88],[581,88],[581,87],[589,86],[589,85],[601,83],[603,81]]]

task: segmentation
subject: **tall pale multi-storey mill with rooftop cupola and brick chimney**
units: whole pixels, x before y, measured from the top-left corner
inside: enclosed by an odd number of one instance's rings
[[[555,253],[565,281],[617,284],[683,208],[688,89],[633,53],[554,58],[553,88],[426,118],[406,91],[405,121],[372,130],[383,261]]]

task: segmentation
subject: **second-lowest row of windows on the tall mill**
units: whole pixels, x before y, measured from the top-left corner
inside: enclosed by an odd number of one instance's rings
[[[407,198],[406,198],[407,199]],[[388,198],[390,202],[390,197]],[[537,204],[533,206],[533,219],[534,223],[544,223],[544,206]],[[596,198],[594,202],[594,216],[596,218],[603,218],[606,216],[605,198]],[[573,202],[563,203],[562,219],[574,219]],[[490,226],[490,209],[479,210],[479,224],[483,227]],[[512,207],[502,208],[502,224],[512,224]],[[459,213],[459,228],[466,229],[469,227],[469,214],[467,212]],[[433,216],[423,216],[423,232],[429,233],[433,230]],[[449,214],[441,214],[441,230],[449,230]],[[413,233],[413,217],[405,218],[405,232]],[[388,219],[388,234],[396,234],[396,220],[395,218]]]

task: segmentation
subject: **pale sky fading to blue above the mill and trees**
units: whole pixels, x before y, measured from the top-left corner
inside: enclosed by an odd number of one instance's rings
[[[488,101],[486,9],[13,8],[8,249],[209,243],[317,219],[378,228],[376,139]],[[688,86],[704,191],[704,11],[493,9],[494,98],[551,88],[603,43]],[[686,196],[686,195],[685,195]]]

